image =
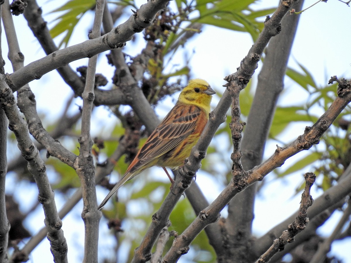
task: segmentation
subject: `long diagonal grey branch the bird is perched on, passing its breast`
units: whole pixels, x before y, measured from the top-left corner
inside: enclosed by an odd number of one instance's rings
[[[271,37],[276,35],[280,31],[280,21],[282,20],[282,18],[288,11],[289,6],[291,5],[290,1],[283,1],[282,3],[283,4],[278,7],[277,11],[273,14],[272,18],[267,20],[267,22],[265,23],[265,28],[260,34],[258,41],[252,46],[252,48],[249,51],[249,54],[242,61],[241,66],[238,69],[238,72],[236,73],[237,77],[230,75],[226,78],[228,81],[233,81],[235,78],[237,78],[240,82],[240,85],[243,83],[245,83],[245,85],[247,84],[254,70],[257,68],[257,62],[260,59],[259,54],[262,54],[264,47],[267,45]],[[223,96],[221,97],[221,100],[216,109],[210,113],[210,120],[208,121],[203,133],[201,134],[197,145],[193,147],[190,157],[185,160],[185,165],[179,168],[180,175],[177,176],[176,181],[173,184],[173,195],[168,194],[164,203],[161,205],[161,208],[158,210],[157,213],[154,214],[150,228],[147,230],[147,233],[140,246],[135,250],[133,262],[144,262],[145,260],[148,260],[148,258],[150,258],[150,251],[158,236],[158,233],[167,224],[168,216],[171,211],[169,210],[169,208],[173,209],[175,202],[178,201],[180,195],[183,193],[185,188],[187,188],[188,185],[191,183],[193,176],[200,167],[201,159],[203,159],[206,155],[207,147],[210,144],[214,133],[216,132],[218,126],[226,118],[226,112],[229,106],[230,95],[229,92],[226,90]],[[232,198],[232,196],[230,198]],[[226,204],[227,203],[225,203],[224,205]],[[186,235],[186,244],[190,244],[193,238],[195,238],[199,231],[206,227],[206,225],[215,222],[218,219],[219,211],[223,209],[223,207],[221,207],[216,214],[213,214],[211,218],[207,217],[207,213],[203,213],[204,210],[201,211],[199,217],[197,217],[195,221],[197,221],[199,218],[203,218],[207,219],[204,220],[207,223],[204,223],[203,225],[200,224],[201,226],[198,225],[199,228],[193,232],[195,234],[192,235],[190,239],[188,239],[188,236]],[[189,230],[189,232],[192,232],[192,230],[194,229],[191,225],[187,230]],[[177,242],[177,240],[179,241],[181,240],[181,238],[177,238],[174,241],[173,246]],[[180,244],[180,247],[173,249],[174,250],[172,250],[172,256],[170,256],[170,251],[168,251],[165,257],[167,259],[164,258],[164,261],[176,261],[177,258],[180,257],[180,254],[175,251],[182,251],[181,254],[184,254],[188,251],[188,247],[186,245],[183,246],[183,244]]]

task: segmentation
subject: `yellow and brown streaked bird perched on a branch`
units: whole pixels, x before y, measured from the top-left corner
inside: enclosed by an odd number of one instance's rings
[[[162,167],[173,185],[166,167],[184,163],[209,119],[212,95],[216,92],[203,79],[192,79],[181,91],[178,101],[139,149],[124,176],[98,207],[101,210],[111,196],[128,180],[152,166]]]

